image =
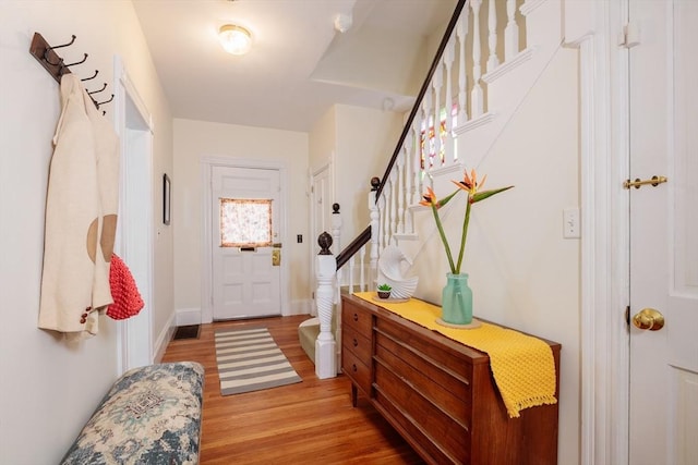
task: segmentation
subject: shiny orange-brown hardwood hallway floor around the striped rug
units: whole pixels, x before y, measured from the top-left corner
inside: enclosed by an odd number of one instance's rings
[[[320,380],[298,341],[308,315],[203,325],[198,339],[171,341],[163,362],[204,365],[202,464],[422,464],[365,399],[351,406],[345,376]],[[266,327],[302,382],[220,395],[214,330]]]

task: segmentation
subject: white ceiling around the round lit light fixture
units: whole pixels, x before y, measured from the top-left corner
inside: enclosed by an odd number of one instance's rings
[[[455,8],[455,0],[133,3],[174,118],[301,132],[334,103],[411,108]],[[340,13],[353,20],[345,34],[334,28]],[[250,53],[222,50],[224,24],[252,32]]]

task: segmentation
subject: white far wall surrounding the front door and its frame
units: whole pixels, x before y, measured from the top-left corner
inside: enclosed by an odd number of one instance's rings
[[[310,237],[308,217],[308,134],[290,131],[174,120],[174,175],[172,178],[172,223],[174,234],[174,307],[178,311],[201,311],[202,286],[202,157],[243,160],[282,160],[287,163],[288,240],[282,259],[290,260],[292,313],[309,313]],[[302,234],[302,244],[296,235]]]

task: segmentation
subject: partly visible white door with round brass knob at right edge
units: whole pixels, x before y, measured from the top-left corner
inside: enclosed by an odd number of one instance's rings
[[[629,193],[629,463],[695,465],[698,2],[630,0],[629,7],[640,33],[629,51],[630,178],[667,179]]]

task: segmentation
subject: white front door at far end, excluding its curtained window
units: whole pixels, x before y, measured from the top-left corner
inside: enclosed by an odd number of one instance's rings
[[[274,169],[213,167],[212,256],[214,320],[281,314],[280,266],[273,260],[279,237],[279,172]],[[266,245],[225,246],[221,199],[270,200],[270,238]],[[266,207],[265,207],[266,208]],[[241,218],[239,221],[248,221]],[[260,223],[255,228],[268,228]]]

